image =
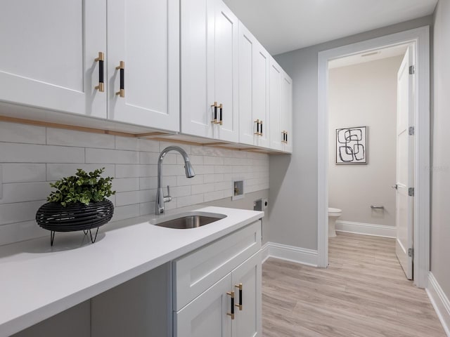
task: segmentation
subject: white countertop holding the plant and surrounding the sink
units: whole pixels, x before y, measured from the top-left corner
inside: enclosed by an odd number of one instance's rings
[[[158,265],[259,220],[264,212],[196,206],[226,218],[188,230],[150,225],[156,216],[108,223],[91,244],[83,232],[0,247],[0,336],[10,336]],[[50,232],[49,232],[50,233]]]

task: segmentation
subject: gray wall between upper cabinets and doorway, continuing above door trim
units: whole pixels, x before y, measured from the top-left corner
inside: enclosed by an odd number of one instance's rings
[[[387,34],[432,25],[428,16],[277,55],[293,79],[291,156],[270,158],[269,241],[317,249],[317,74],[318,53]]]

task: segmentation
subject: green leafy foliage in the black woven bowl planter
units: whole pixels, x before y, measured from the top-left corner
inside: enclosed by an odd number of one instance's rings
[[[57,190],[51,192],[47,201],[58,202],[64,207],[77,202],[89,205],[90,202],[103,201],[106,197],[115,194],[115,191],[111,190],[113,178],[101,177],[103,171],[105,171],[104,167],[89,173],[77,169],[75,176],[65,177],[56,181],[56,183],[50,183],[50,186]]]

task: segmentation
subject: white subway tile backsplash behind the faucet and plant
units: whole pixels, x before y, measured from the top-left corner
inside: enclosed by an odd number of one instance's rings
[[[34,221],[51,192],[50,182],[105,167],[113,176],[114,220],[154,213],[158,156],[174,143],[84,133],[0,122],[0,245],[48,235]],[[176,152],[164,159],[163,186],[170,186],[167,209],[231,197],[233,179],[243,179],[245,192],[269,188],[269,156],[255,152],[179,145],[186,150],[195,177],[184,176]],[[167,192],[167,190],[165,190]]]

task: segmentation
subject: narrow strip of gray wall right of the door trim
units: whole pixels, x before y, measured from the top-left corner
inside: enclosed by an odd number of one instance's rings
[[[435,11],[432,101],[431,271],[450,298],[450,2]]]

